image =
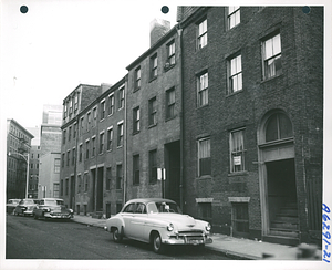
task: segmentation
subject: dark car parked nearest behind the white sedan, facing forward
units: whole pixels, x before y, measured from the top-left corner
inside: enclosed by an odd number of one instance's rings
[[[74,216],[72,209],[66,208],[63,199],[42,198],[33,209],[34,219],[71,219]]]

